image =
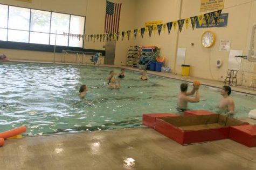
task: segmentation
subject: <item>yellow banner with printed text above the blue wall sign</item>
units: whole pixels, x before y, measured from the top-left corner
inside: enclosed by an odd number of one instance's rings
[[[222,10],[224,0],[201,0],[200,12]]]

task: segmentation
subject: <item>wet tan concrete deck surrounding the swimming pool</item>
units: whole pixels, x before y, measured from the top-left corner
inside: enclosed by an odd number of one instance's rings
[[[116,67],[141,71],[126,66]],[[148,73],[223,86],[223,82],[202,78],[154,71]],[[232,90],[256,95],[256,91],[249,88],[232,86]],[[256,124],[253,119],[245,118],[243,121]],[[1,169],[8,170],[256,169],[256,147],[247,147],[230,139],[182,146],[145,127],[8,139],[0,147],[0,165]]]

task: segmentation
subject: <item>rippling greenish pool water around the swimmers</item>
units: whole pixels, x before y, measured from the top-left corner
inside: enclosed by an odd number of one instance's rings
[[[107,88],[109,71],[118,68],[38,63],[0,63],[0,132],[26,125],[26,135],[142,127],[143,113],[177,112],[181,80],[126,70],[119,90]],[[79,87],[86,84],[86,100]],[[192,85],[189,85],[189,90]],[[190,109],[218,112],[219,88],[201,86],[200,102]],[[255,109],[254,95],[232,92],[234,117]]]

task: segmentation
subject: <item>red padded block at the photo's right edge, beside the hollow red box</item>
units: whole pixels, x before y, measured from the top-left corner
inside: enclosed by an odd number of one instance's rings
[[[256,146],[256,125],[233,126],[229,138],[248,147]]]

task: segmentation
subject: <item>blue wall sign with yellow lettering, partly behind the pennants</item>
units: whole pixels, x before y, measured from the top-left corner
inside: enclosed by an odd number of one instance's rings
[[[213,20],[213,17],[210,20],[209,27],[226,27],[227,26],[227,18],[229,18],[229,13],[222,13],[220,14],[220,17],[217,21],[217,24],[215,25],[215,21]],[[203,24],[199,26],[198,20],[196,22],[196,28],[207,28],[205,19],[203,19]]]

